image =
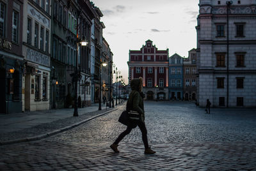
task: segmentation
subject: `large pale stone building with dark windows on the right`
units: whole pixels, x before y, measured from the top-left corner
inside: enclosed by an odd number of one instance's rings
[[[256,106],[256,1],[200,0],[198,102]]]

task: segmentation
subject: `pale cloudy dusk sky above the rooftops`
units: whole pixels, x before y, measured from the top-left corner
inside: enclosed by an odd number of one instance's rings
[[[103,13],[103,36],[113,52],[113,63],[128,82],[129,50],[140,50],[152,40],[169,56],[188,57],[196,48],[198,0],[93,0]]]

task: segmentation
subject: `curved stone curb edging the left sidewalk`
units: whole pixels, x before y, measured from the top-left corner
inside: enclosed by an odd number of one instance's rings
[[[99,114],[99,115],[95,115],[93,117],[90,117],[88,119],[85,119],[83,121],[80,121],[79,123],[75,123],[75,124],[72,124],[70,126],[66,126],[64,128],[60,128],[58,130],[54,130],[54,131],[51,131],[51,132],[48,132],[48,133],[43,133],[43,134],[40,134],[40,135],[36,135],[34,137],[27,137],[27,138],[20,138],[20,139],[16,139],[16,140],[9,140],[9,141],[4,141],[4,142],[0,142],[0,145],[9,145],[9,144],[15,144],[15,143],[19,143],[19,142],[29,142],[29,141],[35,141],[35,140],[41,140],[43,138],[46,138],[46,137],[50,137],[52,135],[56,135],[58,133],[61,133],[63,131],[67,131],[67,130],[70,130],[72,128],[75,128],[83,123],[87,123],[88,121],[92,121],[92,119],[95,119],[96,117],[100,117],[102,115],[106,115],[110,112],[113,112],[115,110],[117,110],[118,108],[114,108],[113,110],[109,110],[108,112],[104,112],[102,114]]]

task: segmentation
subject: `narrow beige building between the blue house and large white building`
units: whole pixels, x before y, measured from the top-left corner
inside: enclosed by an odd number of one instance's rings
[[[196,49],[188,52],[183,60],[183,97],[185,101],[196,100]]]

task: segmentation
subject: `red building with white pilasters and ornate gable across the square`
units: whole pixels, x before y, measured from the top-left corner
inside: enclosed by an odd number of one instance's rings
[[[168,100],[168,54],[168,48],[157,50],[151,40],[140,50],[129,50],[129,83],[142,77],[147,100]]]

